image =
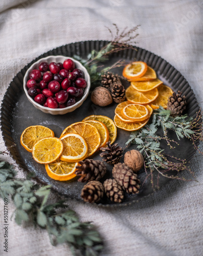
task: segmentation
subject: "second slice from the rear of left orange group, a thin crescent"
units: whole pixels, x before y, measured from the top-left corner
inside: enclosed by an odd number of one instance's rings
[[[109,132],[108,132],[106,125],[97,120],[86,120],[84,122],[90,123],[97,128],[97,130],[100,134],[100,137],[101,137],[101,142],[100,142],[99,148],[105,146],[106,142],[109,139]],[[99,150],[99,148],[98,148],[98,150]]]

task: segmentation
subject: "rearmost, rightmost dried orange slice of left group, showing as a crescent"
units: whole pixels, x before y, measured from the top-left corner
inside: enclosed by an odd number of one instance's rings
[[[114,121],[112,119],[110,119],[107,116],[101,116],[101,115],[91,115],[91,116],[87,116],[85,117],[82,121],[86,121],[86,120],[97,120],[100,121],[102,123],[104,123],[108,129],[109,132],[109,141],[112,144],[117,137],[117,127],[114,123]]]

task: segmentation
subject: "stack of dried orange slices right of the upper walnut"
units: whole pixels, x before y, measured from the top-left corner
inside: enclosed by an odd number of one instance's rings
[[[115,109],[115,124],[126,131],[136,131],[149,120],[154,109],[167,107],[167,100],[173,91],[156,77],[156,72],[143,61],[134,61],[123,70],[123,76],[130,81],[126,99]]]

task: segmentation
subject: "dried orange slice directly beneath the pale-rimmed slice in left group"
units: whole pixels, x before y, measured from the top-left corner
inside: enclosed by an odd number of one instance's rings
[[[60,138],[65,133],[77,133],[85,139],[88,145],[88,153],[86,157],[92,156],[97,151],[101,142],[101,137],[97,128],[89,123],[77,122],[67,126]]]

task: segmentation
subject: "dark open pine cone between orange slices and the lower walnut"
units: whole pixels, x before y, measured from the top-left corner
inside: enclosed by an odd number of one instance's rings
[[[101,147],[101,151],[106,151],[101,153],[100,156],[103,157],[103,161],[109,164],[116,164],[123,156],[123,148],[118,145],[118,143],[111,145],[110,141],[106,142],[107,147]]]

